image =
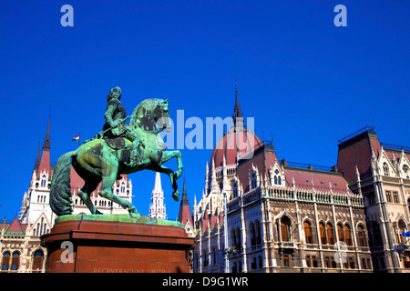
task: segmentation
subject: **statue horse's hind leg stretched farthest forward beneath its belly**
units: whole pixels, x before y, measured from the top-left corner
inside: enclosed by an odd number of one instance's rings
[[[102,185],[99,190],[99,195],[117,203],[123,208],[128,208],[129,214],[138,216],[138,211],[135,206],[133,206],[128,200],[125,200],[112,193],[112,186],[117,179],[118,161],[113,155],[106,156],[106,158],[107,161],[103,163],[104,166],[102,168]]]

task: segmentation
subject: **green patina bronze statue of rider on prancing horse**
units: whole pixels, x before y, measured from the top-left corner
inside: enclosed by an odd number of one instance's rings
[[[137,208],[115,195],[112,186],[120,174],[135,173],[144,169],[169,176],[175,201],[179,200],[177,179],[182,174],[182,158],[178,150],[166,151],[160,132],[170,131],[169,100],[147,99],[133,111],[129,125],[128,116],[120,102],[119,87],[108,94],[106,124],[94,138],[87,140],[77,150],[60,156],[55,167],[50,188],[50,206],[57,216],[71,215],[72,199],[70,168],[74,167],[85,185],[78,191],[91,214],[101,214],[90,199],[91,193],[102,181],[98,194],[118,205],[128,208],[131,216],[140,216]],[[162,166],[170,158],[177,158],[178,169],[172,171]]]

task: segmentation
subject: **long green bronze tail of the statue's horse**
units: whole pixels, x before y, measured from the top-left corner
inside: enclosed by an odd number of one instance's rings
[[[60,156],[56,162],[53,178],[50,187],[50,206],[57,216],[70,215],[73,212],[71,204],[71,186],[70,186],[70,169],[71,156],[77,151],[68,152]]]

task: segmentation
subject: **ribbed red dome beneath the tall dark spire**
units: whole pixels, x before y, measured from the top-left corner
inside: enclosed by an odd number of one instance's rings
[[[238,142],[235,142],[237,135]],[[220,138],[220,141],[213,148],[212,155],[210,156],[210,166],[212,166],[213,160],[215,161],[215,167],[222,166],[224,155],[226,165],[236,164],[238,162],[237,152],[240,159],[251,158],[252,154],[261,146],[263,146],[261,138],[253,132],[248,132],[246,127],[243,127],[243,130],[238,132],[235,132],[232,128],[230,132]]]

